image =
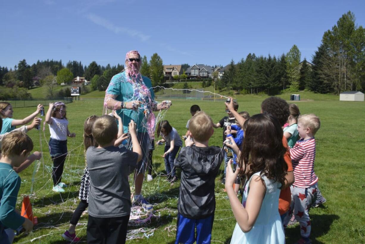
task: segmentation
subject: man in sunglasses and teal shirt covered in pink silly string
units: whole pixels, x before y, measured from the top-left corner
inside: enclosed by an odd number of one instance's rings
[[[139,73],[141,55],[136,50],[126,54],[126,69],[113,76],[105,92],[104,106],[116,110],[123,120],[124,133],[128,131],[131,120],[137,124],[137,137],[142,148],[142,160],[138,162],[134,174],[135,193],[134,205],[144,209],[153,208],[142,194],[142,184],[148,159],[149,135],[154,135],[155,116],[152,111],[168,109],[169,101],[157,103],[154,101],[154,92],[151,80]]]

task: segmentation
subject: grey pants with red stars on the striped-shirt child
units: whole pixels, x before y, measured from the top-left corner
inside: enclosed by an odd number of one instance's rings
[[[292,193],[292,202],[290,205],[289,213],[292,213],[294,209],[295,219],[300,224],[300,235],[303,237],[309,237],[311,233],[309,209],[311,208],[313,202],[316,201],[317,188],[318,183],[315,183],[308,188],[300,188],[296,186],[290,187]],[[289,220],[290,217],[291,214],[288,214],[287,218],[289,218]]]

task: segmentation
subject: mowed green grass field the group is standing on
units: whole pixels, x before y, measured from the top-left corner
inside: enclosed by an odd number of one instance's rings
[[[96,93],[96,92],[95,92]],[[102,92],[99,92],[99,96]],[[321,128],[316,134],[317,154],[315,171],[319,177],[319,187],[327,203],[323,207],[312,209],[311,239],[314,243],[365,243],[365,104],[364,102],[340,102],[338,96],[320,95],[309,92],[298,93],[304,101],[296,102],[301,114],[315,113],[320,117]],[[85,97],[92,96],[92,93]],[[104,95],[101,95],[104,96]],[[281,95],[288,99],[289,94]],[[260,112],[260,104],[266,96],[237,96],[239,111],[247,111],[250,115]],[[223,116],[222,102],[173,100],[173,106],[166,113],[165,119],[183,135],[185,125],[190,118],[189,108],[199,104],[214,122]],[[84,154],[82,145],[82,127],[84,120],[92,115],[101,115],[103,100],[75,101],[67,105],[69,129],[76,132],[76,138],[68,140],[69,157],[66,160],[63,181],[69,187],[66,193],[57,194],[51,191],[50,178],[51,160],[47,141],[49,129],[45,135],[42,131],[32,130],[28,134],[34,142],[34,150],[43,152],[37,171],[37,162],[20,173],[22,186],[18,198],[20,208],[21,196],[31,195],[34,215],[39,224],[31,235],[20,235],[15,243],[25,243],[34,240],[35,243],[67,243],[61,234],[68,228],[73,210],[78,204],[78,189],[84,170]],[[45,107],[47,109],[47,106]],[[33,108],[14,109],[14,118],[20,119],[31,112]],[[222,129],[215,129],[210,141],[211,145],[222,144]],[[154,179],[143,184],[144,196],[154,205],[154,217],[150,222],[128,226],[129,231],[139,233],[141,239],[127,243],[173,243],[176,228],[177,197],[180,182],[170,185],[164,177],[156,175],[164,172],[164,162],[161,158],[163,147],[158,146],[153,154]],[[223,170],[223,165],[221,166]],[[32,182],[32,175],[35,175]],[[212,232],[213,243],[229,243],[235,219],[230,210],[228,200],[219,183],[221,174],[216,178],[216,211]],[[32,188],[32,191],[31,191]],[[80,219],[77,233],[86,243],[87,215]],[[143,229],[141,229],[143,228]],[[143,231],[153,235],[147,238]],[[147,234],[148,234],[147,233]],[[137,235],[137,234],[135,234]],[[299,226],[286,231],[287,243],[294,243],[300,237]]]

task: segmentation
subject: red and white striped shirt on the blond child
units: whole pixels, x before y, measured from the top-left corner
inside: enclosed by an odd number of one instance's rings
[[[316,141],[314,138],[299,140],[290,149],[295,181],[293,186],[308,188],[318,182],[314,173],[314,159],[316,157]]]

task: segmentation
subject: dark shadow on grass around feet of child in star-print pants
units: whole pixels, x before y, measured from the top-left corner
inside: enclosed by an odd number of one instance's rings
[[[312,224],[310,239],[313,243],[322,243],[316,239],[326,235],[330,231],[331,224],[340,217],[335,214],[310,214],[310,218]],[[286,243],[295,243],[300,239],[300,226],[287,228],[285,236],[287,237]]]

